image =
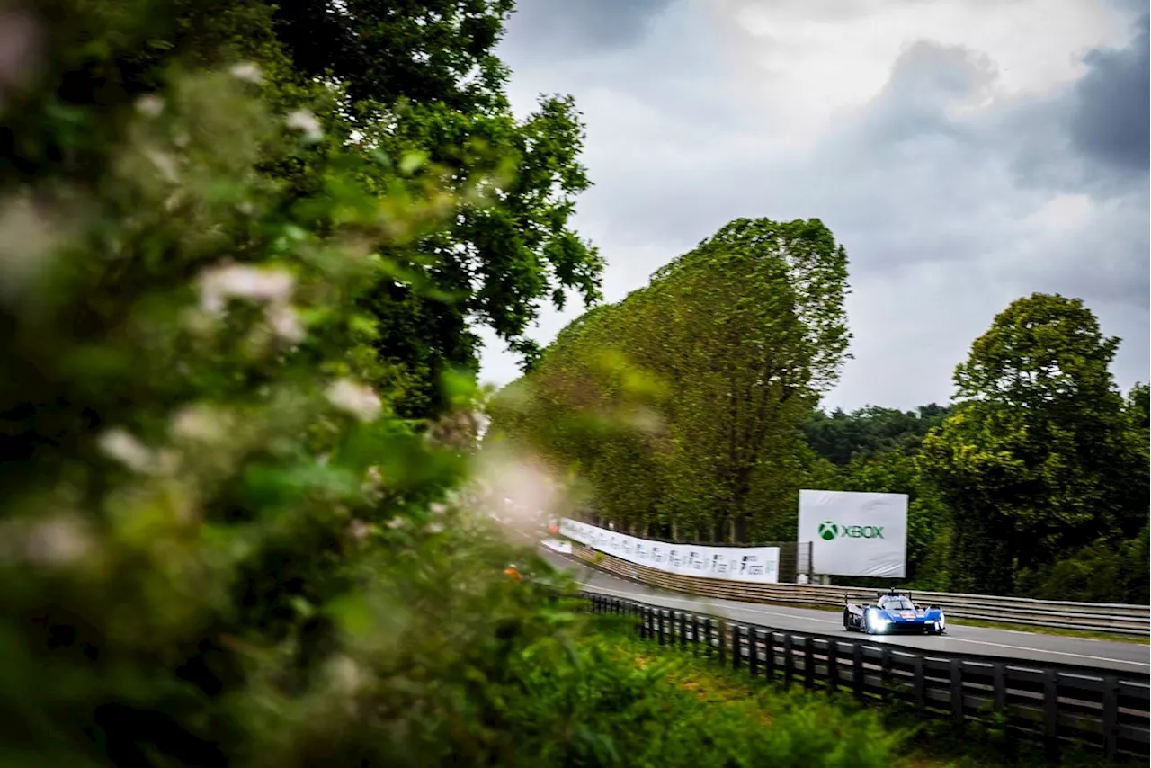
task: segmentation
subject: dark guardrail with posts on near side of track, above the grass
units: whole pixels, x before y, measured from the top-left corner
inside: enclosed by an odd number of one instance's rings
[[[851,691],[859,699],[902,701],[956,723],[998,720],[1054,755],[1065,744],[1095,745],[1108,758],[1151,755],[1151,679],[1069,664],[915,652],[744,624],[593,592],[596,614],[635,619],[639,634],[701,653],[755,678]],[[1004,725],[1006,723],[1006,725]]]

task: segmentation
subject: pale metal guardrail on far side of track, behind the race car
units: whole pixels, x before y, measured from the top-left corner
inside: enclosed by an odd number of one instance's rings
[[[852,586],[747,584],[679,576],[646,565],[635,565],[577,542],[572,543],[572,554],[588,564],[616,576],[665,590],[722,600],[843,608],[844,595],[848,593],[876,592],[876,590]],[[1151,606],[1065,602],[947,592],[913,591],[912,595],[916,602],[923,601],[943,606],[948,618],[1151,637]]]

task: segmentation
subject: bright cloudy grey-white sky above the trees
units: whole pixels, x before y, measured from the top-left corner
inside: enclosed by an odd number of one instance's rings
[[[947,401],[1031,291],[1083,298],[1123,339],[1120,386],[1151,379],[1151,0],[519,5],[512,100],[585,115],[576,223],[608,301],[731,219],[816,216],[852,263],[830,406]],[[483,379],[514,379],[486,339]]]

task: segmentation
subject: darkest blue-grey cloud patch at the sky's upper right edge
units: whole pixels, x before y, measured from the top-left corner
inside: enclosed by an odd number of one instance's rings
[[[1151,170],[1151,14],[1126,48],[1096,50],[1073,97],[1070,136],[1119,170]]]

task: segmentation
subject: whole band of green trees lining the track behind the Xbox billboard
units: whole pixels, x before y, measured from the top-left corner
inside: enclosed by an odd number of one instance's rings
[[[497,400],[493,439],[532,444],[586,481],[587,511],[639,534],[786,541],[799,488],[906,493],[920,587],[1151,601],[1151,390],[1125,400],[1119,340],[1090,310],[1014,302],[951,405],[828,415],[813,409],[844,359],[845,291],[818,222],[735,222],[566,328]]]

